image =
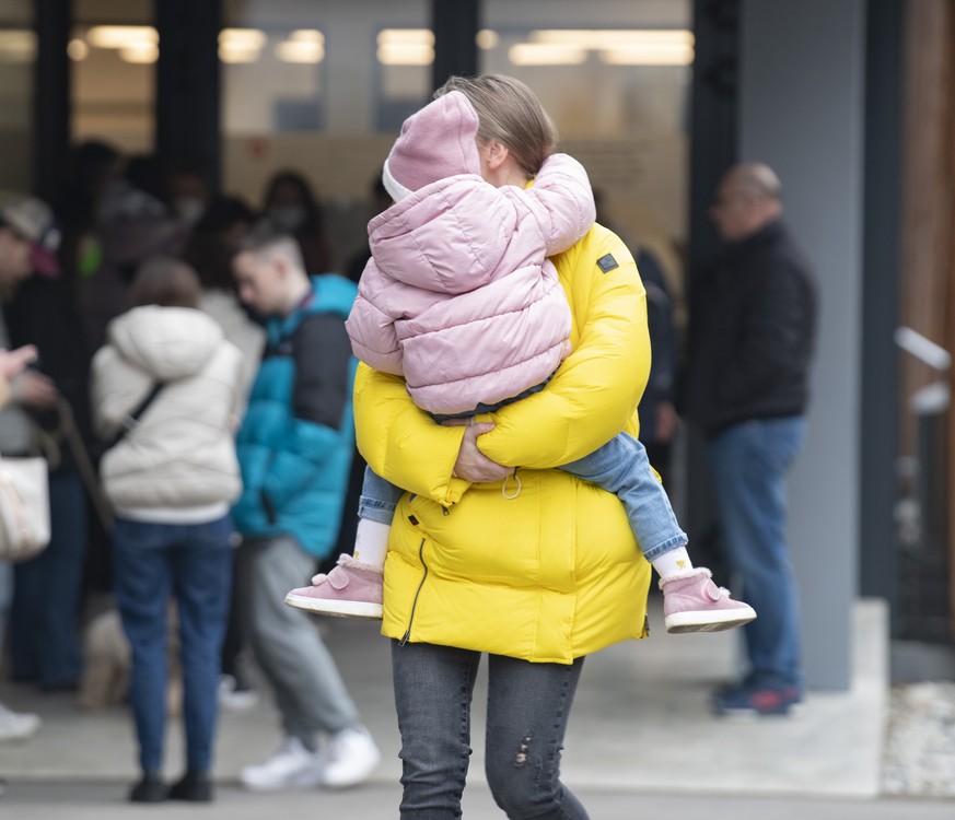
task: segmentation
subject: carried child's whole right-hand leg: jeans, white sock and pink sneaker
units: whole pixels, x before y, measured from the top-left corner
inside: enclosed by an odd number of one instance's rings
[[[562,469],[616,493],[624,503],[640,549],[660,573],[667,632],[717,632],[756,618],[753,607],[732,600],[712,582],[709,570],[694,569],[686,551],[686,534],[640,442],[620,433]]]

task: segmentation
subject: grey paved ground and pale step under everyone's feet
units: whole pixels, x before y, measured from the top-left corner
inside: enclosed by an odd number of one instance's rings
[[[223,713],[217,748],[218,799],[211,807],[130,806],[135,743],[125,708],[84,712],[71,695],[40,695],[0,683],[0,700],[44,717],[26,743],[0,745],[0,820],[113,820],[154,811],[164,818],[395,818],[398,738],[387,643],[371,624],[329,619],[326,642],[338,659],[383,760],[364,786],[249,795],[236,786],[243,765],[279,740],[267,698],[248,712]],[[854,672],[848,692],[813,691],[788,719],[727,722],[709,708],[711,688],[733,677],[736,633],[667,635],[651,612],[648,641],[587,659],[568,730],[563,775],[596,820],[706,817],[707,820],[953,820],[955,800],[887,798],[882,757],[888,672],[885,609],[855,610]],[[484,682],[475,698],[468,820],[503,815],[484,782]],[[166,774],[182,766],[171,727]],[[955,773],[953,773],[955,776]]]

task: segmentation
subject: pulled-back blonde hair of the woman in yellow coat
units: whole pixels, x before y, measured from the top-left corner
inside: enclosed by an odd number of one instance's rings
[[[452,77],[436,92],[459,91],[478,115],[478,140],[497,140],[527,176],[535,176],[557,150],[557,128],[537,95],[520,80],[505,74]]]

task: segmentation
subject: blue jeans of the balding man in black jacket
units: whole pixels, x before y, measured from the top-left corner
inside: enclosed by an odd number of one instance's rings
[[[730,570],[759,613],[743,628],[758,687],[802,692],[799,590],[785,542],[787,473],[805,435],[805,419],[752,420],[709,443]]]

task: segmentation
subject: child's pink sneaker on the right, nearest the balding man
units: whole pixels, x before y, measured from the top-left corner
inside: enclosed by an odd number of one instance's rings
[[[756,610],[733,600],[729,590],[712,582],[704,566],[660,579],[663,622],[667,632],[720,632],[742,626],[756,618]]]

